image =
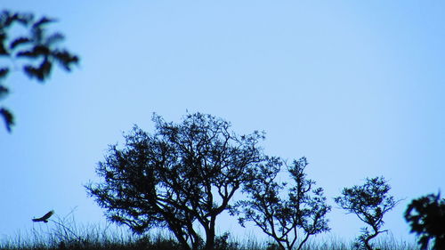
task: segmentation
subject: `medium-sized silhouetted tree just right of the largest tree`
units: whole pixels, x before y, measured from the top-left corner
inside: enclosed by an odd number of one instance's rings
[[[277,157],[268,157],[259,165],[243,189],[248,199],[239,201],[231,212],[240,215],[243,227],[245,222],[254,222],[280,249],[291,250],[299,240],[299,250],[310,236],[329,230],[325,217],[331,207],[323,189],[313,189],[315,181],[306,178],[305,157],[287,167],[295,183],[287,190],[287,198],[282,198],[287,183],[275,181],[281,165]]]

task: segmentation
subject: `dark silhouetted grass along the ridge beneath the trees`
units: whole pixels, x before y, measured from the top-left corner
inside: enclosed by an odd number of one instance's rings
[[[13,238],[0,240],[0,249],[4,250],[55,250],[55,249],[92,249],[92,250],[175,250],[181,249],[174,238],[165,231],[150,235],[136,236],[110,224],[104,226],[78,225],[74,216],[56,217],[51,220],[52,227],[38,224],[26,234],[17,234]],[[239,240],[225,235],[216,239],[216,250],[275,250],[270,242],[251,236]],[[417,250],[414,243],[397,240],[391,236],[376,238],[376,249],[381,250]],[[353,241],[344,242],[338,238],[312,239],[303,250],[352,250]]]

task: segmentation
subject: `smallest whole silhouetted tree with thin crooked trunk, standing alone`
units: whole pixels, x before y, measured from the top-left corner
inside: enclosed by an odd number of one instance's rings
[[[336,204],[348,212],[348,214],[356,214],[361,222],[365,222],[370,226],[362,228],[362,234],[358,238],[357,246],[360,248],[372,250],[369,241],[379,233],[387,230],[380,230],[384,225],[384,214],[392,210],[399,203],[388,194],[391,187],[384,180],[384,177],[376,177],[366,179],[361,186],[353,186],[352,188],[344,188],[341,197],[335,198]]]

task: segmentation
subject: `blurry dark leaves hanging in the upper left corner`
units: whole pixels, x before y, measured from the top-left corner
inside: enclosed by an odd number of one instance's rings
[[[65,49],[57,46],[64,36],[59,33],[48,34],[45,26],[55,20],[42,17],[35,19],[31,13],[9,12],[0,13],[0,58],[12,61],[12,66],[0,66],[0,99],[8,93],[9,88],[2,84],[2,80],[12,71],[16,70],[20,61],[22,70],[29,78],[36,78],[44,82],[56,62],[61,68],[70,71],[78,58]],[[26,30],[26,34],[11,37],[11,28],[19,25]],[[16,32],[17,33],[17,32]],[[0,117],[3,117],[6,129],[11,132],[14,117],[9,109],[0,108]]]

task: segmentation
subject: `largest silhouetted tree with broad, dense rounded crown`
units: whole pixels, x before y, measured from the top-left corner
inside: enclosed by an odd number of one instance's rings
[[[136,233],[167,228],[186,249],[201,246],[198,224],[212,249],[217,216],[262,161],[263,135],[238,136],[223,119],[199,113],[180,124],[153,122],[156,133],[134,126],[123,149],[110,146],[96,169],[102,182],[86,189],[112,222]]]

